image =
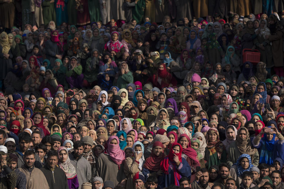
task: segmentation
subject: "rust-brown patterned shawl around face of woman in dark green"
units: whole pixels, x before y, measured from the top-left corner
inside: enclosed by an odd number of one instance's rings
[[[209,134],[210,133],[216,133],[217,134],[217,140],[214,141],[214,142],[210,142],[209,141]],[[224,146],[220,145],[222,144],[222,142],[220,141],[220,137],[219,137],[219,132],[216,128],[210,128],[208,131],[207,131],[207,134],[206,134],[206,143],[207,143],[207,148],[209,149],[209,151],[213,152],[214,149],[216,150],[217,152],[217,158],[221,158],[221,154],[223,152],[223,150],[225,150]]]

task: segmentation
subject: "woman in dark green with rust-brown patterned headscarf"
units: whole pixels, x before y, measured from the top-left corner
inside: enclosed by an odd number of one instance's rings
[[[211,167],[211,165],[219,166],[220,163],[226,162],[226,149],[223,143],[220,141],[219,132],[216,128],[210,128],[206,134],[206,151],[204,160],[207,161],[205,166]],[[208,153],[208,155],[207,155]]]

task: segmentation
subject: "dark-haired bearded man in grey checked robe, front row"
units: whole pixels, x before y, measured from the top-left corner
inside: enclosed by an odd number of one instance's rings
[[[82,157],[84,150],[84,143],[82,141],[76,141],[73,149],[74,151],[69,154],[69,158],[72,165],[76,168],[79,189],[81,189],[83,183],[91,180],[91,165],[87,159]]]

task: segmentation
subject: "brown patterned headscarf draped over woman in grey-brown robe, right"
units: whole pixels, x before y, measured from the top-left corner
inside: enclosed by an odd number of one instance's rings
[[[242,139],[239,137],[239,133],[241,130],[246,131],[246,138]],[[237,136],[236,136],[236,145],[238,149],[240,150],[241,154],[249,154],[254,155],[257,152],[256,148],[252,148],[251,146],[251,139],[249,138],[249,130],[246,127],[242,127],[238,130]]]

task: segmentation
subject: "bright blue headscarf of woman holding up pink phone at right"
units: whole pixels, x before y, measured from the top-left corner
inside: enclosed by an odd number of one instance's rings
[[[271,128],[269,126],[269,128]],[[261,139],[262,140],[262,146],[260,148],[260,151],[259,151],[259,163],[266,163],[266,164],[269,164],[269,165],[272,165],[273,164],[273,149],[274,149],[274,146],[275,144],[278,142],[275,141],[275,134],[273,134],[273,138],[272,140],[268,140],[267,139],[267,134],[265,133],[263,138]]]

